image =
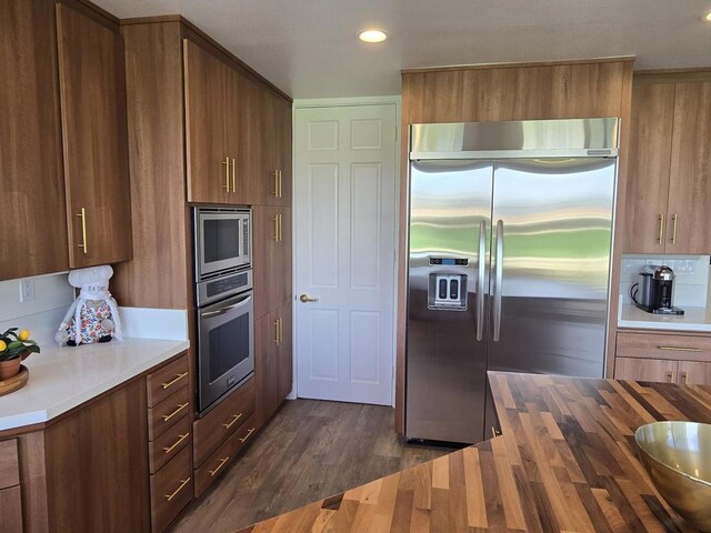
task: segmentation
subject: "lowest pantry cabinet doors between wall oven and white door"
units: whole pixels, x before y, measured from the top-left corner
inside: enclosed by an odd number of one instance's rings
[[[291,392],[291,302],[254,323],[257,425],[263,425]]]

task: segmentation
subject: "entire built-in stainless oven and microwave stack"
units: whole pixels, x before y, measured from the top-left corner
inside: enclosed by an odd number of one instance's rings
[[[252,213],[192,209],[201,416],[254,372]]]

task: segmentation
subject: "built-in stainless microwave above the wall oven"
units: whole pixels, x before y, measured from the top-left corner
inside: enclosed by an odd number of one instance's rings
[[[249,212],[197,211],[198,280],[217,272],[249,266]]]

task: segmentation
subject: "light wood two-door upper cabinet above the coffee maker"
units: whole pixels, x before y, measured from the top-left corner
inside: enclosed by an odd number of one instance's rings
[[[622,252],[711,251],[711,74],[635,76]]]

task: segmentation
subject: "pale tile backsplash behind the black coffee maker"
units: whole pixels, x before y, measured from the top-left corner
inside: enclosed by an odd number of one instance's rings
[[[673,303],[680,308],[705,308],[709,303],[709,255],[622,255],[620,295],[632,303],[630,286],[649,265],[667,265],[674,271]]]

